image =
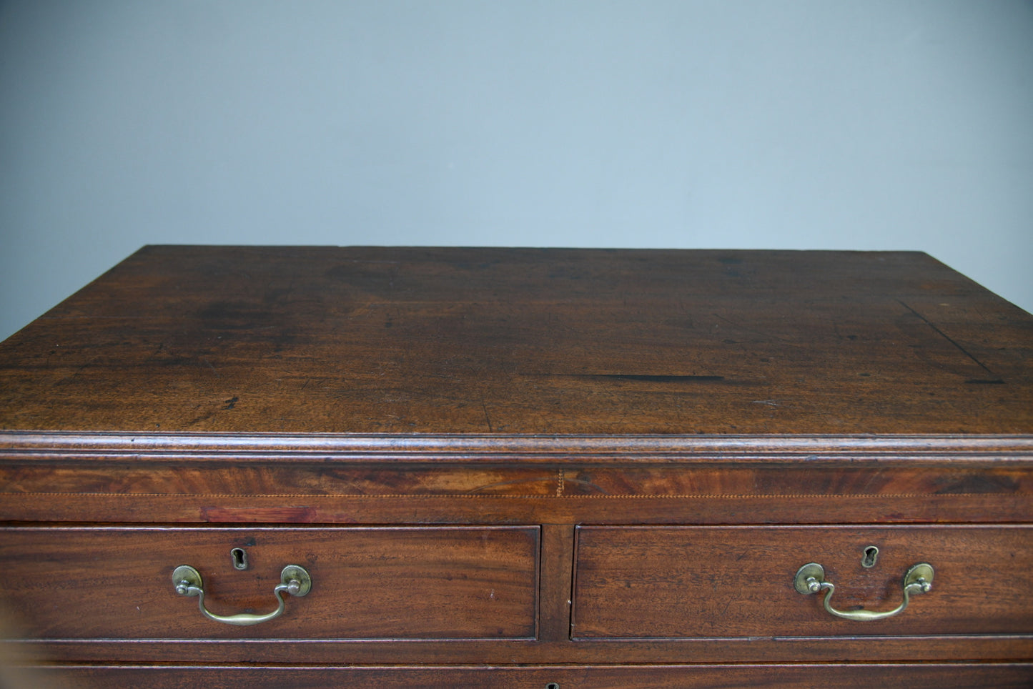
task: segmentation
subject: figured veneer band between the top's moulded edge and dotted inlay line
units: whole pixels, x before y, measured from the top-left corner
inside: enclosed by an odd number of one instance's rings
[[[669,466],[589,466],[590,458],[564,464],[522,466],[392,466],[323,462],[255,461],[216,458],[205,464],[144,461],[95,462],[0,459],[0,495],[5,493],[248,496],[879,496],[1033,495],[1033,471],[1018,459],[995,462],[922,462],[887,465],[860,458],[840,466],[785,461],[737,466],[724,458],[709,466],[697,461]],[[627,460],[626,460],[627,461]],[[717,466],[714,466],[717,465]],[[803,466],[802,466],[803,465]]]

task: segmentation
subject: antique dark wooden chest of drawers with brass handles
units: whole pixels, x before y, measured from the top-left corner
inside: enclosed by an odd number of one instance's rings
[[[146,247],[0,345],[33,682],[1026,687],[1031,529],[919,253]]]

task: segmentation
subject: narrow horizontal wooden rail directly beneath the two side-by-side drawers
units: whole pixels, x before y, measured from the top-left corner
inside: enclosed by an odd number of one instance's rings
[[[569,618],[566,618],[569,620]],[[565,629],[569,633],[569,627]],[[543,631],[544,633],[544,631]],[[37,664],[151,663],[342,663],[380,664],[384,658],[408,664],[514,665],[541,663],[657,664],[751,662],[971,662],[1033,658],[1033,634],[948,634],[927,636],[801,636],[691,639],[511,640],[294,640],[218,639],[104,640],[46,639],[0,641]],[[499,659],[504,659],[501,662]]]

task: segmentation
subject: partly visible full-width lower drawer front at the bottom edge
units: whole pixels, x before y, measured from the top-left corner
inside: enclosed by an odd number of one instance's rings
[[[1019,689],[1033,684],[1028,664],[678,665],[556,667],[55,667],[56,686],[215,688],[373,686],[500,689]],[[57,679],[57,678],[55,678]]]

